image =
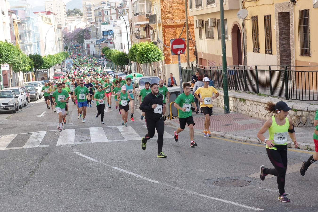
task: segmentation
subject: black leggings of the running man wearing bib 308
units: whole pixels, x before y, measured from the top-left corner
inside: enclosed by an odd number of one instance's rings
[[[164,130],[164,123],[163,118],[159,120],[153,119],[145,119],[147,124],[148,133],[145,135],[145,138],[142,140],[143,143],[147,143],[147,140],[151,139],[155,135],[155,130],[158,133],[158,153],[162,151],[162,144],[163,144],[163,130]]]

